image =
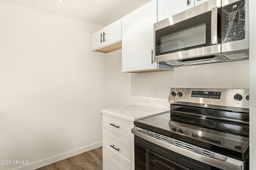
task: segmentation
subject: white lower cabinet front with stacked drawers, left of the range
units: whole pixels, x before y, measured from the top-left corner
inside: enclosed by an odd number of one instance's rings
[[[110,125],[112,124],[112,125]],[[113,126],[114,125],[114,126]],[[102,114],[104,170],[134,170],[133,122]],[[131,140],[132,139],[132,140]]]

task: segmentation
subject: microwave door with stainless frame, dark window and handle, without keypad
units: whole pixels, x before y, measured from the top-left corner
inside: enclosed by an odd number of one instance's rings
[[[210,0],[155,23],[155,61],[219,54],[221,10],[216,4],[220,6],[218,0]]]

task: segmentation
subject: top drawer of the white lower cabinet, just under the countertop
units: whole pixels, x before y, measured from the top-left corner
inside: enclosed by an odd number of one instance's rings
[[[132,141],[134,141],[134,135],[131,132],[133,126],[133,122],[102,114],[102,127],[131,139]]]

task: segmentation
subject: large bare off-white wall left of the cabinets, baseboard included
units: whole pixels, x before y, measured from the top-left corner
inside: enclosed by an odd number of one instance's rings
[[[0,160],[33,169],[102,145],[106,55],[90,50],[100,28],[0,1]]]

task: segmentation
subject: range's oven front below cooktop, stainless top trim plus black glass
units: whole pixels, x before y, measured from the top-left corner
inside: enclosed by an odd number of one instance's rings
[[[218,153],[214,158],[185,149],[182,142],[175,145],[165,142],[168,137],[134,127],[135,170],[244,170],[246,161],[239,161]],[[154,134],[153,134],[154,133]],[[156,137],[154,137],[156,136]],[[163,139],[163,141],[162,141]],[[176,145],[176,143],[178,143]],[[185,144],[184,144],[185,145]],[[192,146],[186,144],[188,146]],[[198,150],[198,149],[196,149]],[[212,155],[212,154],[211,154]],[[245,168],[246,167],[246,168]]]

